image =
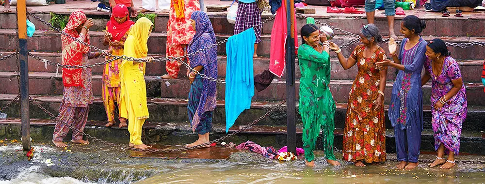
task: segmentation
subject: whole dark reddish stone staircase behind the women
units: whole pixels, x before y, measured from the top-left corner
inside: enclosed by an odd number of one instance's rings
[[[58,14],[68,15],[68,12],[57,12]],[[427,28],[423,32],[423,38],[425,40],[431,40],[436,36],[441,37],[443,40],[451,43],[461,43],[461,42],[471,42],[471,41],[485,41],[485,32],[483,24],[483,19],[485,18],[485,13],[474,14],[469,18],[442,18],[437,15],[422,13],[419,11],[414,12],[419,14],[421,18],[426,19]],[[106,48],[102,46],[100,39],[102,39],[103,32],[106,25],[107,19],[100,19],[103,15],[100,13],[87,13],[88,17],[95,18],[95,26],[91,28],[91,43],[93,46],[98,48]],[[44,12],[37,12],[36,15],[40,16],[44,20],[49,20],[50,15]],[[105,16],[105,15],[104,15]],[[216,37],[218,41],[228,38],[232,35],[234,25],[229,24],[226,20],[224,14],[209,14],[214,31],[216,32]],[[263,15],[263,19],[268,18],[270,15]],[[325,22],[329,25],[338,27],[340,29],[351,31],[356,33],[360,29],[360,25],[366,23],[365,16],[350,16],[350,15],[335,15],[331,16],[329,14],[315,15],[315,19]],[[395,30],[400,29],[400,19],[403,17],[396,17]],[[0,54],[7,55],[11,54],[16,46],[16,34],[14,28],[16,27],[15,14],[0,14]],[[33,21],[32,21],[33,20]],[[298,27],[304,25],[304,19],[297,19]],[[54,31],[45,31],[49,28],[42,25],[37,20],[31,18],[31,21],[37,26],[36,31],[32,38],[28,40],[28,49],[32,54],[45,58],[53,62],[61,62],[61,40],[60,33]],[[165,55],[165,43],[166,43],[166,22],[168,21],[168,15],[159,14],[155,19],[155,29],[148,40],[149,55],[154,58],[160,58]],[[13,23],[12,23],[13,22]],[[387,22],[385,17],[378,16],[376,18],[376,24],[382,31],[383,35],[388,35],[387,32]],[[269,53],[270,53],[270,33],[272,29],[273,22],[267,23],[263,26],[263,35],[261,36],[262,42],[258,47],[258,55],[261,56],[254,60],[254,73],[258,74],[263,70],[268,68],[269,65]],[[453,29],[452,29],[453,26]],[[339,45],[347,43],[354,37],[343,35],[337,32],[334,38],[334,42]],[[299,37],[299,36],[298,36]],[[357,44],[350,46],[348,48],[342,49],[345,56],[350,55],[350,52]],[[385,50],[387,50],[387,44],[381,44]],[[455,58],[462,71],[463,80],[465,86],[467,87],[468,95],[468,105],[469,114],[466,122],[463,124],[463,136],[462,136],[462,152],[463,153],[473,153],[473,154],[485,154],[485,93],[483,91],[484,86],[481,84],[481,71],[483,60],[485,59],[485,48],[480,46],[470,46],[467,48],[454,48],[450,47],[452,52],[452,57]],[[226,49],[225,45],[218,47],[218,69],[219,78],[225,78],[226,76]],[[341,148],[341,138],[342,129],[345,123],[345,112],[347,108],[348,93],[350,87],[357,74],[357,68],[354,66],[350,70],[343,70],[340,66],[338,60],[336,59],[334,53],[331,54],[332,59],[332,73],[330,81],[330,87],[332,94],[334,95],[335,101],[338,103],[336,111],[336,131],[335,131],[335,142],[338,148]],[[102,62],[104,59],[98,58],[91,60],[90,63]],[[299,85],[299,67],[298,60],[296,60],[296,97],[298,99],[298,85]],[[97,126],[98,121],[106,121],[106,114],[104,112],[104,107],[101,100],[101,75],[103,67],[95,67],[92,69],[93,72],[93,91],[96,97],[95,103],[90,107],[88,124]],[[10,102],[10,100],[16,97],[18,93],[17,90],[17,78],[16,78],[16,59],[10,58],[6,61],[1,61],[0,67],[0,107]],[[32,57],[29,57],[29,81],[30,81],[30,92],[34,95],[34,98],[41,102],[43,107],[46,107],[49,111],[54,114],[58,113],[58,108],[60,105],[61,96],[63,93],[62,77],[59,71],[59,75],[56,75],[55,65],[45,65],[45,63],[36,61]],[[183,74],[186,73],[186,69],[181,68],[181,72],[178,79],[173,80],[162,80],[161,75],[165,74],[165,63],[155,62],[150,63],[146,69],[146,85],[147,85],[147,97],[148,97],[148,108],[150,111],[150,119],[147,120],[149,123],[160,123],[160,122],[170,122],[178,124],[188,124],[187,122],[187,102],[186,98],[188,96],[188,91],[190,89],[190,83],[187,77]],[[392,89],[392,83],[396,76],[396,70],[389,68],[387,85],[386,85],[386,104],[389,103],[390,92]],[[239,119],[236,121],[235,128],[239,128],[239,125],[245,125],[257,119],[259,116],[265,114],[270,107],[278,103],[278,101],[286,99],[286,78],[278,78],[262,92],[255,92],[253,97],[253,103],[251,109],[244,111]],[[224,107],[224,96],[225,96],[225,85],[218,84],[217,86],[217,98],[218,107],[214,112],[214,125],[224,126],[225,125],[225,107]],[[430,110],[430,93],[431,85],[428,83],[423,87],[424,94],[424,127],[425,133],[423,133],[423,146],[421,150],[423,151],[433,151],[430,144],[433,143],[433,136],[431,130],[431,110]],[[298,104],[298,103],[297,103]],[[6,113],[9,118],[19,118],[19,108],[18,104],[9,107]],[[387,107],[386,107],[387,109]],[[48,119],[48,115],[42,110],[31,105],[31,118],[32,119]],[[4,124],[0,122],[0,130],[3,128],[10,127],[16,123],[16,121],[10,121],[10,124]],[[17,121],[18,122],[18,121]],[[97,123],[95,123],[97,122]],[[259,138],[261,140],[271,139],[272,141],[263,141],[262,145],[270,146],[274,143],[276,145],[286,144],[286,113],[285,108],[279,109],[277,113],[271,115],[270,117],[264,119],[258,123],[258,127],[246,132],[247,135],[261,135]],[[33,127],[41,126],[52,126],[52,124],[32,124]],[[156,125],[148,126],[150,130],[156,132]],[[387,120],[386,126],[388,128],[388,153],[395,151],[394,148],[394,138],[392,134],[392,127]],[[268,128],[270,127],[270,128]],[[301,120],[297,116],[297,127],[301,127]],[[168,132],[172,130],[173,132],[178,132],[177,135],[187,134],[191,131],[187,128],[180,128],[177,126],[164,126]],[[172,128],[172,129],[170,129]],[[89,129],[89,128],[88,128]],[[175,131],[178,130],[178,131]],[[1,132],[1,131],[0,131]],[[92,131],[91,133],[102,136],[104,133],[102,131]],[[153,134],[153,132],[152,132]],[[174,133],[175,134],[175,133]],[[225,132],[223,130],[216,130],[214,135],[223,135]],[[42,134],[49,139],[49,134]],[[246,135],[246,139],[249,136]],[[241,138],[241,137],[240,137]],[[265,139],[263,139],[265,138]],[[34,138],[35,139],[35,138]],[[167,139],[167,138],[165,138]],[[168,138],[172,140],[171,138]],[[242,137],[241,139],[244,139]],[[164,139],[159,139],[159,142],[164,142]],[[265,143],[267,145],[265,145]],[[297,145],[301,146],[301,137],[297,138]],[[466,145],[466,146],[465,146]]]

